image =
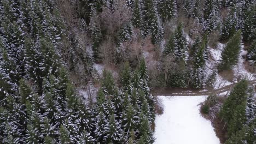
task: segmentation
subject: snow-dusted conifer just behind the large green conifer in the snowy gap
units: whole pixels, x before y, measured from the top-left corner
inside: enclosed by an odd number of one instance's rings
[[[238,29],[236,7],[232,7],[222,27],[222,40],[228,40]]]

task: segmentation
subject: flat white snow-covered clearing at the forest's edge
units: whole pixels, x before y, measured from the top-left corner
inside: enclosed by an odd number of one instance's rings
[[[200,115],[205,96],[158,97],[164,113],[155,119],[155,144],[219,144],[211,122]]]

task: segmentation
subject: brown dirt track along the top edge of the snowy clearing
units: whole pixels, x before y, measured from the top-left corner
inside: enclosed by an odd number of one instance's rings
[[[249,84],[253,85],[256,83],[256,80],[249,81]],[[188,88],[161,88],[156,89],[153,92],[153,95],[165,95],[165,96],[201,96],[201,95],[210,95],[210,94],[220,94],[220,93],[228,93],[232,87],[234,87],[236,83],[232,83],[231,85],[224,86],[218,89],[206,89],[206,90],[195,90]]]

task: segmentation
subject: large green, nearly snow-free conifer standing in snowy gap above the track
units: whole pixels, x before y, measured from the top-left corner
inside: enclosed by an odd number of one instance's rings
[[[237,31],[228,41],[222,52],[222,60],[218,70],[230,70],[238,61],[241,51],[241,29]]]

